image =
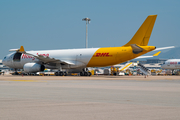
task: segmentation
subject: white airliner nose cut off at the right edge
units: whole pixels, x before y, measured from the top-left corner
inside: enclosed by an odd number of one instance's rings
[[[180,59],[169,59],[161,66],[162,69],[180,69]]]

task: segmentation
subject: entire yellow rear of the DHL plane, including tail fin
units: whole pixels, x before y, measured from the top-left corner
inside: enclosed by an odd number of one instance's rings
[[[122,47],[99,48],[87,67],[110,66],[126,62],[154,50],[147,46],[157,15],[149,15],[132,39]]]

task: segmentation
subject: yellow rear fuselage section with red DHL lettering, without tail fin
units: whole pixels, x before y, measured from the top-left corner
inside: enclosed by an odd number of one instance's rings
[[[144,50],[139,54],[134,54],[131,46],[127,47],[107,47],[99,48],[90,59],[87,67],[111,66],[131,60],[137,56],[155,49],[154,46],[140,46]]]

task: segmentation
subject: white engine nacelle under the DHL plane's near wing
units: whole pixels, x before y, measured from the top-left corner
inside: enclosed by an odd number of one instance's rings
[[[45,66],[38,63],[26,63],[24,64],[23,69],[25,72],[33,73],[33,72],[44,71]]]

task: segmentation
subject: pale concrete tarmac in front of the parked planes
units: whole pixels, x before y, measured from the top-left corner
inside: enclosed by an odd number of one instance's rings
[[[0,120],[180,120],[180,76],[0,76]]]

